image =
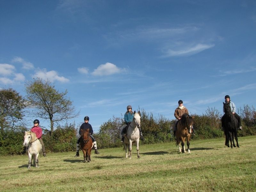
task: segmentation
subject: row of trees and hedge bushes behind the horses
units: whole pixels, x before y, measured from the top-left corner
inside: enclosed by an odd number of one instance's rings
[[[47,152],[75,151],[80,125],[60,124],[79,115],[72,101],[67,97],[68,91],[59,92],[49,81],[38,78],[25,84],[25,89],[26,98],[12,88],[0,90],[0,156],[19,155],[22,152],[23,136],[26,130],[23,118],[26,114],[49,120],[51,130],[43,129],[42,137]],[[27,108],[30,110],[26,111]],[[142,131],[146,139],[140,142],[141,145],[175,140],[172,135],[175,120],[169,120],[160,114],[154,116],[152,112],[147,113],[143,108],[139,110]],[[241,116],[243,125],[243,131],[239,131],[238,136],[256,135],[255,108],[244,105],[244,108],[238,108],[238,114]],[[224,137],[220,130],[221,114],[217,109],[208,107],[205,114],[192,114],[192,116],[195,116],[196,130],[192,140]],[[99,133],[93,134],[98,148],[123,146],[119,139],[120,127],[123,124],[125,122],[122,115],[113,116],[104,122],[100,126]]]

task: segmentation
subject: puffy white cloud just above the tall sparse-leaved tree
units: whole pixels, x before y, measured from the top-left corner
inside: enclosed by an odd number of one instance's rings
[[[48,71],[47,72],[46,69],[37,71],[36,74],[33,76],[33,78],[37,78],[37,77],[44,79],[44,80],[49,80],[51,82],[60,81],[62,83],[66,83],[69,81],[69,79],[67,79],[63,76],[59,76],[56,71]]]

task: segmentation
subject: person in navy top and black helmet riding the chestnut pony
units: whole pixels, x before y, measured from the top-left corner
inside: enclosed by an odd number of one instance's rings
[[[84,117],[84,123],[80,126],[79,129],[79,135],[81,135],[82,130],[86,130],[89,129],[90,132],[90,137],[92,138],[92,142],[93,142],[93,147],[95,149],[95,154],[100,154],[97,150],[97,143],[96,140],[92,137],[93,134],[93,130],[92,130],[92,125],[88,123],[89,122],[89,117],[85,116]],[[74,157],[79,157],[79,149],[80,149],[80,141],[81,141],[81,136],[78,138],[77,142],[76,142],[76,155]]]

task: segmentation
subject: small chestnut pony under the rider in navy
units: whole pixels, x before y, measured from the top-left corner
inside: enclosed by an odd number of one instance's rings
[[[92,138],[90,137],[89,129],[83,130],[81,132],[81,141],[80,148],[84,153],[84,163],[91,161],[91,151],[92,151],[93,143]]]

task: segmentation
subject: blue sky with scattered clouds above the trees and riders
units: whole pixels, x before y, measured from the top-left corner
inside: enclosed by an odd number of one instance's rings
[[[127,105],[169,119],[180,99],[198,115],[227,94],[255,107],[255,34],[255,1],[0,0],[0,87],[48,79],[95,132]]]

